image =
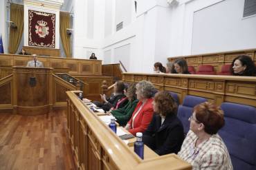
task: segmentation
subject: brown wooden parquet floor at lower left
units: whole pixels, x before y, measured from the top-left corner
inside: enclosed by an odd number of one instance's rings
[[[0,169],[75,169],[65,111],[0,114]]]

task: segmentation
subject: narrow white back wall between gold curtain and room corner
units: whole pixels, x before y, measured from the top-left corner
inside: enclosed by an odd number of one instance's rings
[[[102,0],[74,1],[74,58],[89,59],[89,52],[94,52],[98,59],[103,59],[101,47],[104,39],[104,8]],[[89,19],[92,16],[93,21]]]

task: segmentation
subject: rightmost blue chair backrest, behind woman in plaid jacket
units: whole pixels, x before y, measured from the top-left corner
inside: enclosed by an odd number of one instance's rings
[[[234,169],[256,169],[255,107],[222,103],[221,109],[225,126],[219,130],[219,135],[228,148]]]

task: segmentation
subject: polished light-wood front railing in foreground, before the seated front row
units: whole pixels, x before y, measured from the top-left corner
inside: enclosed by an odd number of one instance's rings
[[[147,157],[141,160],[129,147],[105,125],[75,92],[68,96],[67,127],[77,169],[191,169],[191,165],[175,154]]]

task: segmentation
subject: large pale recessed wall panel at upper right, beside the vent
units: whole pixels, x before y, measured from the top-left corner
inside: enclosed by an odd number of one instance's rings
[[[192,54],[256,47],[256,16],[244,19],[242,6],[226,0],[194,12]]]

